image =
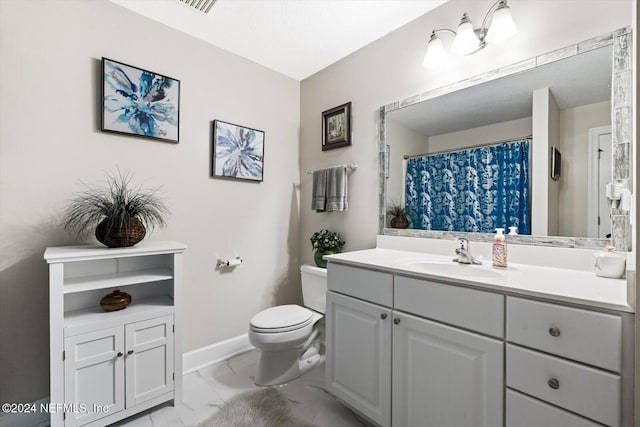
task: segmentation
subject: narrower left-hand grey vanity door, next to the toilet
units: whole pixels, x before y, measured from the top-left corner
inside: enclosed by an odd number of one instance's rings
[[[389,427],[391,310],[327,292],[326,334],[327,389]]]

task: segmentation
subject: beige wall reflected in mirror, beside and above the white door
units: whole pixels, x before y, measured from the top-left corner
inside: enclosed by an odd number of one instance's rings
[[[560,110],[560,236],[587,237],[589,129],[611,125],[611,102]]]

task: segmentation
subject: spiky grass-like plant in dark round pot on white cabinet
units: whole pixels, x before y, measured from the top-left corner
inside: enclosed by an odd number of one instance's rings
[[[164,227],[168,210],[158,198],[159,188],[132,187],[130,173],[107,174],[106,185],[84,184],[85,190],[68,201],[64,228],[78,237],[95,230],[110,248],[133,246],[147,228]]]

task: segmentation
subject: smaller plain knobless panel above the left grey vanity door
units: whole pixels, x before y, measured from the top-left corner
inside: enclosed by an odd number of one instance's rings
[[[327,288],[387,307],[393,306],[393,275],[329,261]]]

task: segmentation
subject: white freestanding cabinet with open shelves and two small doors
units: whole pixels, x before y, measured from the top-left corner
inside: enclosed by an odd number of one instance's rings
[[[176,242],[48,248],[52,426],[104,426],[182,395]],[[115,289],[132,296],[106,312]],[[62,406],[62,404],[66,406]]]

